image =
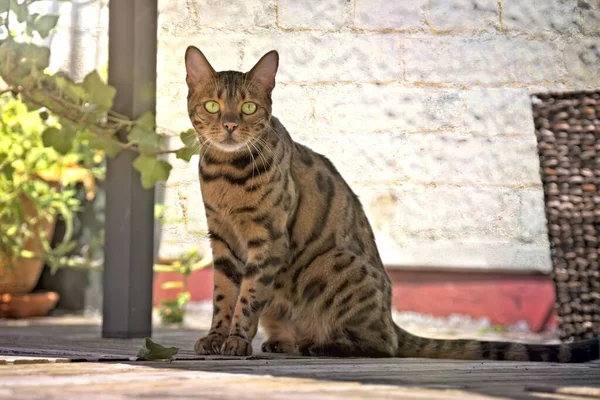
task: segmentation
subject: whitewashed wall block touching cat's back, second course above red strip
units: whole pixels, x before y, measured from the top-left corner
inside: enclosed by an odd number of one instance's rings
[[[380,199],[396,204],[382,233],[428,240],[516,240],[519,193],[510,188],[451,185],[356,187],[372,220]]]

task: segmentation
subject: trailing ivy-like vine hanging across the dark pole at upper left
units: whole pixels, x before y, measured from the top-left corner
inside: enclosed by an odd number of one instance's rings
[[[46,133],[45,144],[62,151],[79,138],[92,149],[115,157],[123,150],[139,153],[133,167],[142,185],[152,188],[169,177],[171,165],[161,156],[175,153],[189,161],[200,143],[193,130],[180,134],[183,146],[166,150],[165,137],[156,132],[155,117],[145,113],[130,120],[112,110],[116,90],[98,71],[76,83],[62,73],[47,71],[50,50],[37,45],[54,29],[57,15],[32,13],[38,0],[0,0],[0,78],[4,89],[19,97],[29,110],[44,109],[59,119],[62,129]]]

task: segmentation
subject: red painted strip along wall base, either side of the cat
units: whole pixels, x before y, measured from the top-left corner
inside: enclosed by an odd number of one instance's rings
[[[534,332],[556,326],[553,316],[554,285],[546,275],[488,272],[388,270],[394,284],[393,306],[436,317],[451,314],[487,317],[493,324],[527,321]],[[156,273],[154,304],[173,299],[178,289],[160,286],[177,280],[177,274]],[[193,301],[212,299],[211,268],[196,271],[188,281]]]

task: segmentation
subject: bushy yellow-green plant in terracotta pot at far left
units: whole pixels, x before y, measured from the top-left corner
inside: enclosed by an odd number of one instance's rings
[[[45,314],[58,296],[33,294],[44,264],[68,265],[73,214],[80,207],[75,185],[93,198],[102,177],[102,155],[71,140],[57,144],[63,127],[43,109],[29,111],[10,94],[0,96],[0,316]],[[67,232],[50,241],[57,218]]]

